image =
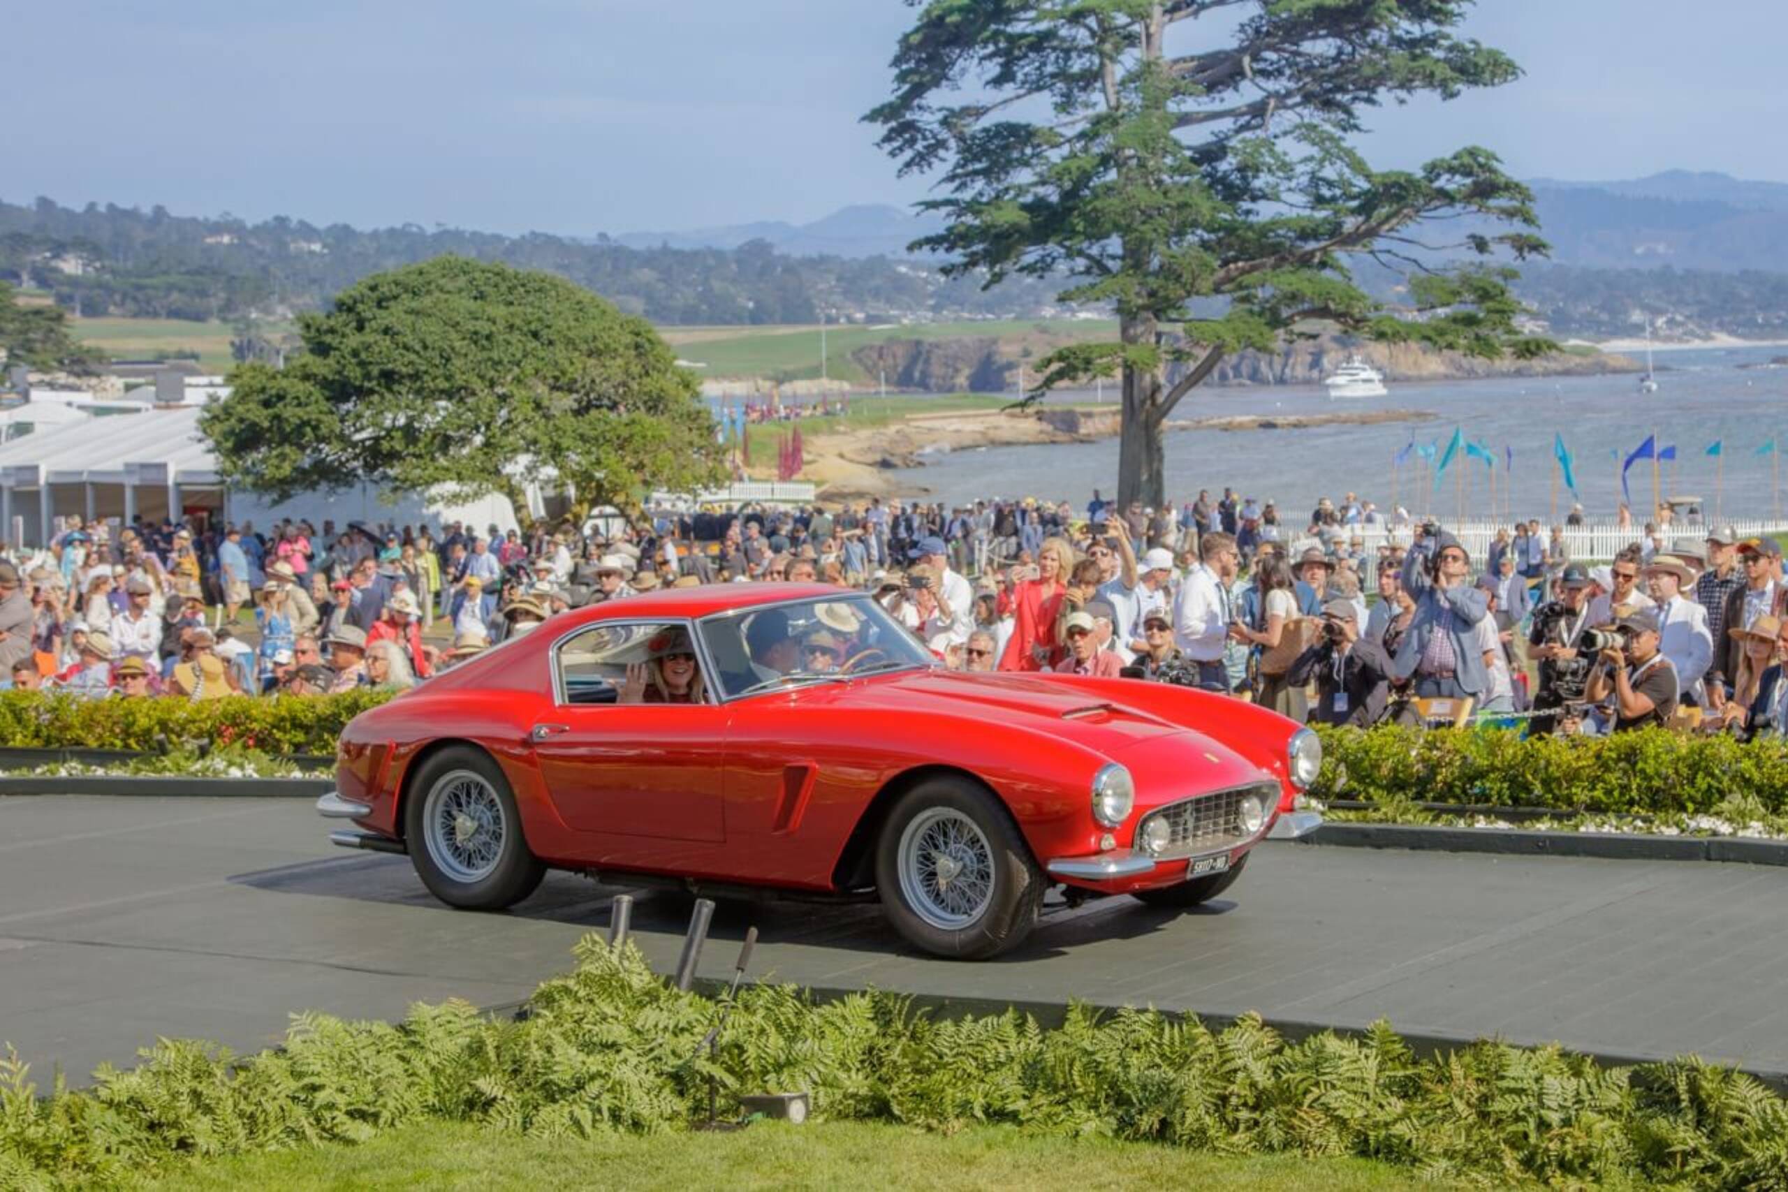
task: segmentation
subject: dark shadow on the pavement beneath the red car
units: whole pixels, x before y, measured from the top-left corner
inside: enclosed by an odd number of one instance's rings
[[[236,874],[229,881],[270,894],[460,913],[436,901],[417,877],[409,861],[401,856],[356,852]],[[547,874],[533,895],[501,913],[608,931],[613,922],[613,901],[622,894],[633,897],[631,931],[676,938],[687,933],[696,895],[658,886],[597,885],[588,877],[567,872]],[[765,945],[840,949],[924,963],[955,963],[921,953],[901,940],[887,924],[880,902],[819,902],[778,895],[762,899],[715,897],[713,901],[715,910],[708,928],[712,944],[742,942],[746,931],[756,928],[758,938]],[[1180,919],[1225,915],[1234,908],[1236,902],[1216,899],[1189,911],[1157,910],[1128,897],[1087,899],[1071,908],[1062,901],[1060,892],[1053,892],[1044,901],[1042,919],[1030,938],[987,963],[1012,965],[1066,956],[1089,944],[1137,940],[1164,933]]]

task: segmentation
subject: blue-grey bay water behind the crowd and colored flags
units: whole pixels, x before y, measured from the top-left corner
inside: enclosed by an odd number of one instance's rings
[[[1550,516],[1550,484],[1557,472],[1552,436],[1564,436],[1573,456],[1577,493],[1591,518],[1611,518],[1622,500],[1622,461],[1657,434],[1675,447],[1677,459],[1659,465],[1661,490],[1715,502],[1716,459],[1706,454],[1724,443],[1720,504],[1727,516],[1772,516],[1772,456],[1758,447],[1775,440],[1788,449],[1788,368],[1765,365],[1788,348],[1693,348],[1657,354],[1657,393],[1638,391],[1638,377],[1500,377],[1389,384],[1386,397],[1328,400],[1321,386],[1209,388],[1189,395],[1173,418],[1221,415],[1316,415],[1341,409],[1411,409],[1436,415],[1427,422],[1380,425],[1327,425],[1286,431],[1169,431],[1166,440],[1168,497],[1191,500],[1200,488],[1212,497],[1225,484],[1246,497],[1275,500],[1293,520],[1318,497],[1339,500],[1346,491],[1389,509],[1413,513],[1457,509],[1457,472],[1466,477],[1466,516],[1491,511],[1491,474],[1497,509],[1516,516]],[[1107,395],[1112,390],[1107,386]],[[1087,400],[1089,395],[1075,395]],[[1396,470],[1391,461],[1411,440],[1445,450],[1454,427],[1468,441],[1495,454],[1495,468],[1461,456],[1436,486],[1423,477],[1414,456]],[[1513,449],[1513,468],[1507,465]],[[926,466],[894,474],[899,484],[928,490],[928,499],[971,502],[991,497],[1048,497],[1084,506],[1094,488],[1118,490],[1118,440],[1039,447],[989,447],[928,456]],[[1652,500],[1652,466],[1638,461],[1627,472],[1634,516],[1643,520]],[[1788,475],[1783,475],[1788,499]],[[1559,518],[1572,495],[1559,488]]]

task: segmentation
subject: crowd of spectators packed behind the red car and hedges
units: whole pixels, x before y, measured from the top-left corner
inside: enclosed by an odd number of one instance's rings
[[[1368,527],[1387,531],[1371,558]],[[776,581],[871,592],[951,668],[1177,683],[1296,720],[1416,720],[1421,701],[1472,701],[1541,731],[1672,724],[1686,706],[1743,735],[1788,724],[1774,540],[1647,525],[1588,570],[1561,527],[1525,522],[1479,561],[1352,493],[1289,531],[1273,504],[1232,490],[1162,509],[1098,493],[1085,509],[871,500],[527,533],[283,522],[195,536],[72,520],[48,550],[0,561],[0,684],[129,699],[402,690],[565,609]]]

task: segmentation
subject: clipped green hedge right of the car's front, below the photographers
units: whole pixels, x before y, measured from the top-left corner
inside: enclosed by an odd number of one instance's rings
[[[1788,813],[1788,740],[1641,729],[1536,736],[1472,729],[1321,729],[1318,799],[1563,811],[1700,813],[1734,797]]]

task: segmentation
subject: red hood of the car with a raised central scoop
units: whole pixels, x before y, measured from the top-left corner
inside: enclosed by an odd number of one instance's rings
[[[1259,772],[1216,738],[1150,711],[1150,684],[1135,686],[1141,699],[1132,702],[1039,676],[915,670],[833,692],[851,708],[953,713],[994,731],[1007,727],[1066,738],[1114,760],[1144,745],[1177,747],[1175,752],[1196,747],[1203,756],[1216,754],[1250,774]]]

